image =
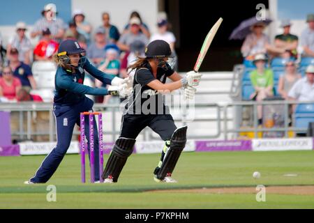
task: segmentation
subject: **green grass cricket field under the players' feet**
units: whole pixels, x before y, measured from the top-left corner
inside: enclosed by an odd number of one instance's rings
[[[266,202],[257,202],[255,193],[177,192],[204,187],[314,185],[314,151],[182,153],[173,173],[177,184],[154,182],[152,172],[159,157],[131,155],[119,182],[109,185],[80,183],[79,155],[66,155],[50,181],[41,185],[23,182],[33,176],[43,155],[0,157],[0,208],[314,208],[311,194],[267,194]],[[262,177],[253,179],[254,171]],[[47,185],[56,186],[56,202],[46,200]]]

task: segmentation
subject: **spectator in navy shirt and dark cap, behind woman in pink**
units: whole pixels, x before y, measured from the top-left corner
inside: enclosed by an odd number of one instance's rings
[[[31,89],[36,89],[36,82],[33,79],[33,74],[31,73],[31,67],[27,64],[19,61],[19,52],[17,49],[12,48],[10,50],[10,68],[13,71],[13,75],[20,79],[22,83],[22,88],[31,91]]]

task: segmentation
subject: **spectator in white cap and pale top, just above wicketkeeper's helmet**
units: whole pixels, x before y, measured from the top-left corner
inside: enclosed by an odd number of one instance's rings
[[[89,44],[91,41],[92,27],[89,22],[85,21],[85,15],[82,10],[77,9],[73,11],[73,21],[77,27],[77,31],[84,36],[86,43]]]

